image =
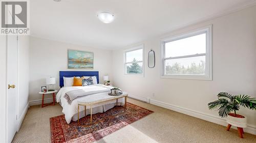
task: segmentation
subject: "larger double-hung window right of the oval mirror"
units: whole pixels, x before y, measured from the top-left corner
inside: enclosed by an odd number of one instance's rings
[[[212,80],[211,25],[161,41],[161,77]]]

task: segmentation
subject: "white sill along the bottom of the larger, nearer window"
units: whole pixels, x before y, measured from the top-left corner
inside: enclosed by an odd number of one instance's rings
[[[212,80],[207,75],[161,75],[160,78],[189,79],[189,80]]]

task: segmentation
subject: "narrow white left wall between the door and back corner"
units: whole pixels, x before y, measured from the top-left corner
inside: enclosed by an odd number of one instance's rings
[[[18,126],[22,124],[28,109],[29,98],[29,36],[18,37],[18,79],[17,79],[17,115]]]

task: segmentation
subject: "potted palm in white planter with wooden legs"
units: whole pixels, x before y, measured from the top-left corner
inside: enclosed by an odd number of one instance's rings
[[[256,110],[256,98],[251,98],[247,95],[231,95],[225,92],[218,94],[218,100],[208,103],[209,109],[219,110],[221,118],[227,117],[227,130],[231,125],[238,127],[239,136],[243,138],[243,128],[246,128],[246,117],[237,114],[240,106]],[[233,113],[231,113],[233,111]]]

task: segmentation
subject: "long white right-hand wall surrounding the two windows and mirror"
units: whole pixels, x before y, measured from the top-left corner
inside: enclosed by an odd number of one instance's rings
[[[116,68],[113,70],[114,84],[131,95],[151,98],[155,103],[160,101],[218,117],[218,111],[209,110],[207,103],[216,100],[219,92],[256,97],[255,14],[256,6],[141,42],[145,45],[144,77],[124,75],[123,50],[113,51],[113,66]],[[209,24],[213,24],[213,80],[160,78],[160,39]],[[152,69],[147,67],[147,52],[150,49],[156,52],[156,67]],[[255,110],[241,109],[239,113],[248,118],[250,127],[256,131]]]

